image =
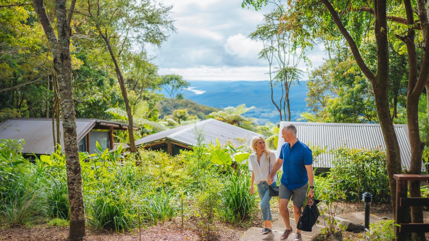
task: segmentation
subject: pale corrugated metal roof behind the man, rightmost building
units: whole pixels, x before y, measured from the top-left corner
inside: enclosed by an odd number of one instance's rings
[[[309,123],[309,122],[285,122],[282,121],[280,126],[293,123],[297,129],[297,138],[305,144],[325,147],[327,150],[337,149],[340,146],[347,148],[377,148],[386,149],[383,133],[380,124],[361,124],[361,123]],[[399,141],[401,151],[402,166],[410,167],[411,147],[408,140],[408,126],[395,124],[393,125],[396,136]],[[281,138],[281,128],[278,138],[277,156],[280,154],[281,145],[284,144]],[[331,168],[331,159],[333,155],[326,152],[317,157],[317,162],[313,163],[314,167]]]

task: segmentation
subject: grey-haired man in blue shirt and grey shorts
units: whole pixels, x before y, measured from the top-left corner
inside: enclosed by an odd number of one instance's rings
[[[295,222],[298,224],[299,217],[302,214],[305,197],[307,194],[308,184],[310,184],[309,197],[314,196],[314,175],[313,175],[313,155],[310,148],[296,138],[296,126],[287,124],[281,129],[281,137],[284,139],[284,144],[281,146],[280,155],[275,162],[267,183],[271,185],[273,177],[278,169],[283,165],[283,175],[281,176],[281,184],[278,188],[278,207],[281,217],[283,217],[286,230],[281,235],[280,239],[284,240],[292,233],[292,227],[289,220],[289,204],[290,197],[293,196],[293,213],[295,214]],[[294,241],[301,241],[301,230],[296,229]]]

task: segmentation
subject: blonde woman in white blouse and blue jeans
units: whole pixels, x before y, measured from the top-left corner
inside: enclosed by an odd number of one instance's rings
[[[272,229],[272,217],[269,205],[271,197],[269,196],[268,183],[266,181],[268,179],[269,172],[271,172],[271,169],[276,162],[275,154],[267,149],[265,139],[262,136],[255,136],[252,138],[251,149],[254,153],[249,156],[248,160],[249,170],[252,171],[250,193],[255,193],[254,183],[256,183],[259,197],[261,198],[262,219],[264,220],[264,228],[261,233],[262,235],[266,235]],[[275,186],[277,175],[273,181],[274,182],[271,185]]]

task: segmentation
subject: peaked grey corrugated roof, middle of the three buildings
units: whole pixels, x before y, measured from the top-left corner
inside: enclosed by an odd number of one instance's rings
[[[255,135],[260,135],[256,132],[243,129],[238,126],[233,126],[219,120],[207,119],[198,121],[195,124],[179,126],[145,136],[136,141],[136,146],[151,144],[163,139],[170,139],[172,141],[177,141],[189,146],[196,145],[195,134],[193,132],[195,125],[198,129],[203,129],[203,133],[205,133],[204,142],[206,144],[210,142],[216,143],[216,138],[218,138],[219,143],[222,145],[225,144],[228,140],[236,142],[234,141],[234,138],[251,138]]]

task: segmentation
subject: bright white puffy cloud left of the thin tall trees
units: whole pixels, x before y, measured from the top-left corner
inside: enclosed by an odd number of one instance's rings
[[[253,41],[242,33],[229,36],[224,44],[225,51],[230,55],[236,55],[244,59],[258,58],[258,53],[263,49],[261,42]]]

